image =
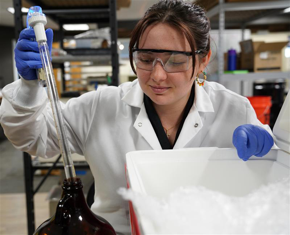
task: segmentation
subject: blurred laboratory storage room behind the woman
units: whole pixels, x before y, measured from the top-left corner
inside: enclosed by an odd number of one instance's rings
[[[156,2],[0,0],[0,102],[2,88],[19,79],[14,48],[20,31],[27,27],[31,6],[42,8],[47,18],[45,28],[53,30],[53,72],[60,100],[66,103],[99,87],[118,86],[137,78],[129,61],[130,35]],[[289,1],[189,2],[203,6],[211,24],[212,56],[206,69],[207,81],[247,97],[258,119],[273,130],[289,92]],[[73,154],[72,159],[91,205],[92,173],[83,156]],[[32,235],[55,213],[64,178],[61,156],[45,159],[23,153],[7,140],[0,126],[0,234]]]

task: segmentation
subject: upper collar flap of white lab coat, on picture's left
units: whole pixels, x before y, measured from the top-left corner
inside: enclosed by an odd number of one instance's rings
[[[132,82],[132,88],[123,96],[122,101],[130,106],[141,108],[143,104],[143,98],[143,90],[139,85],[138,79],[136,79]]]

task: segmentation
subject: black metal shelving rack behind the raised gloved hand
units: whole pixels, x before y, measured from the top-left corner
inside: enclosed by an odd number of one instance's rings
[[[62,1],[60,1],[62,2]],[[68,1],[73,3],[72,1]],[[92,2],[92,1],[88,1]],[[104,2],[104,1],[101,1]],[[103,25],[110,26],[111,33],[111,47],[108,53],[104,53],[104,49],[100,50],[100,53],[96,51],[95,54],[90,55],[77,55],[77,56],[59,56],[52,57],[53,63],[60,63],[63,70],[63,85],[64,83],[64,61],[95,61],[100,64],[106,63],[112,66],[112,76],[111,83],[112,86],[118,86],[118,73],[119,73],[119,58],[117,51],[117,18],[116,18],[116,4],[115,0],[108,0],[108,6],[82,6],[81,8],[70,7],[57,7],[52,6],[50,1],[46,0],[30,0],[31,6],[41,6],[43,12],[51,17],[60,25],[61,40],[60,45],[63,48],[64,31],[63,24],[66,23],[102,23]],[[20,31],[23,29],[22,15],[26,13],[21,12],[22,1],[13,0],[13,6],[15,9],[14,19],[15,19],[15,38],[19,37]],[[32,235],[35,231],[34,222],[34,194],[39,190],[41,185],[44,183],[45,179],[48,177],[52,169],[63,169],[63,163],[59,162],[61,155],[57,158],[54,163],[39,163],[31,160],[31,156],[28,153],[23,153],[24,162],[24,181],[26,190],[26,205],[27,205],[27,228],[28,235]],[[76,169],[88,168],[86,162],[75,162]],[[34,172],[37,169],[48,169],[48,173],[44,176],[42,181],[33,189],[33,177]]]

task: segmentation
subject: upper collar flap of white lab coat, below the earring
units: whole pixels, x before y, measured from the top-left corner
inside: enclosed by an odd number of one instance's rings
[[[195,96],[194,105],[199,112],[214,112],[213,103],[209,99],[209,95],[206,93],[203,86],[199,86],[195,81]]]

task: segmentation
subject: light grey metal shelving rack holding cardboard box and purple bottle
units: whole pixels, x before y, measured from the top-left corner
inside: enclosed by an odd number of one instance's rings
[[[207,17],[210,20],[217,19],[218,20],[218,81],[255,81],[261,78],[265,80],[273,80],[273,79],[290,79],[289,72],[261,72],[261,73],[245,73],[245,74],[224,74],[224,52],[222,47],[223,42],[223,34],[225,30],[225,26],[236,26],[239,25],[242,29],[242,35],[244,34],[244,29],[246,26],[254,20],[263,18],[265,16],[276,15],[281,10],[290,7],[290,3],[288,0],[276,0],[276,1],[267,1],[267,2],[225,2],[225,0],[219,0],[218,5],[207,11]],[[242,20],[234,19],[235,17],[232,15],[232,21],[227,22],[226,24],[226,12],[236,12],[241,13],[245,11],[254,11],[254,14],[250,15],[248,18],[246,16],[242,17]],[[236,14],[236,18],[241,17],[242,14]],[[246,14],[245,14],[246,15]],[[244,36],[242,36],[242,39]]]

